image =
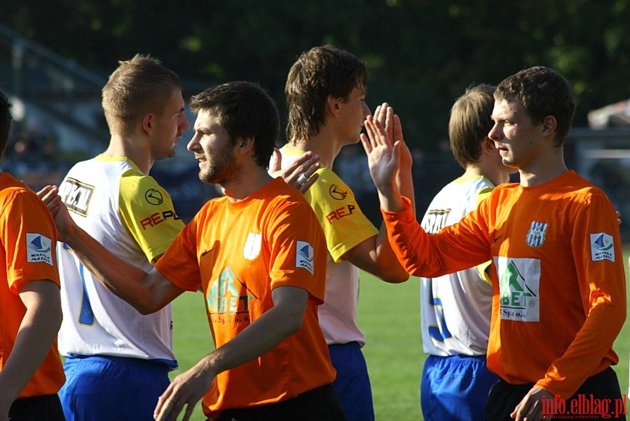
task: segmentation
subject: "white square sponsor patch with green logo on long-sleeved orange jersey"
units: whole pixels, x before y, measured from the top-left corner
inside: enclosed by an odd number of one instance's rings
[[[540,260],[495,258],[503,320],[540,321]]]

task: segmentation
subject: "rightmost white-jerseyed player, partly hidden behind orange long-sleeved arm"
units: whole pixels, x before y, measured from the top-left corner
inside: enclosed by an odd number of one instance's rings
[[[448,138],[464,173],[431,201],[421,222],[426,232],[458,222],[514,172],[502,164],[488,138],[494,90],[488,85],[469,88],[451,108]],[[420,402],[427,421],[486,419],[486,397],[499,380],[486,368],[492,286],[484,272],[489,263],[420,279],[423,349],[429,354]]]

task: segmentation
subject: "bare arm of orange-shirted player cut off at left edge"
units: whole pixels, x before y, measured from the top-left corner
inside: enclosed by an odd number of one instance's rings
[[[0,419],[8,419],[8,410],[50,351],[61,326],[59,286],[48,279],[25,283],[20,300],[26,314],[15,344],[0,371]]]

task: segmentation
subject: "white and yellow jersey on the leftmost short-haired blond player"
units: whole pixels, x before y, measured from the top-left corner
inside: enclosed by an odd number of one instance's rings
[[[118,258],[151,270],[184,227],[170,196],[127,158],[102,155],[77,163],[60,185],[76,224]],[[107,355],[158,360],[172,368],[172,311],[143,316],[102,286],[72,250],[57,243],[65,356]]]

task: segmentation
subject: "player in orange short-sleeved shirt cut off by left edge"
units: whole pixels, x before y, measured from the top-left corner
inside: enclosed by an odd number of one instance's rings
[[[0,156],[11,133],[11,103],[0,92]],[[57,230],[41,200],[0,172],[0,420],[62,421],[57,352],[62,321]]]

